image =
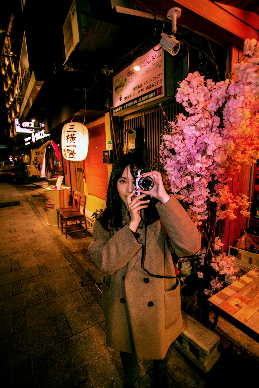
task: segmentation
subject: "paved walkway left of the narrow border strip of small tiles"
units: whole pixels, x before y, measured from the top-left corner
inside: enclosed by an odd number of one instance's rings
[[[0,354],[6,386],[90,387],[89,376],[104,386],[99,360],[112,357],[100,291],[26,197],[8,184],[0,189]],[[122,386],[118,372],[114,377]]]

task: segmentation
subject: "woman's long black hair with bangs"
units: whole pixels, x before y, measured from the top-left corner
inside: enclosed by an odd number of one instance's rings
[[[117,191],[117,181],[122,177],[123,171],[127,166],[129,166],[132,177],[136,177],[139,168],[149,168],[143,156],[134,153],[124,154],[116,160],[112,168],[107,189],[106,207],[100,219],[104,229],[109,229],[108,225],[117,229],[122,228],[124,225],[122,211],[124,202]],[[159,219],[158,212],[155,208],[155,203],[157,202],[158,200],[156,198],[152,198],[145,210],[145,221],[147,225]]]

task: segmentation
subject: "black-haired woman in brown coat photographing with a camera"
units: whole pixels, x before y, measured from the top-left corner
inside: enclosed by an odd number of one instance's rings
[[[88,247],[105,273],[102,300],[106,343],[121,352],[128,387],[132,388],[140,386],[138,359],[154,360],[156,385],[167,386],[167,349],[183,329],[180,284],[161,225],[176,255],[190,256],[200,249],[199,231],[177,199],[166,193],[158,171],[140,175],[150,177],[154,185],[149,191],[139,189],[136,195],[133,180],[140,168],[148,166],[136,154],[116,160],[106,208],[97,217]],[[144,263],[142,209],[147,225]]]

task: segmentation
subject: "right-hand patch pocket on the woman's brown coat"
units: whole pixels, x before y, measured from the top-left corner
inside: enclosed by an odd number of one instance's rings
[[[179,279],[176,278],[176,281],[176,288],[164,293],[166,329],[172,326],[181,316],[181,287]]]

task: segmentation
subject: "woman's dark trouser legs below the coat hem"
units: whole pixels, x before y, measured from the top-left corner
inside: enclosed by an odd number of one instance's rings
[[[166,375],[168,356],[162,360],[153,360],[153,370],[155,378],[162,378]],[[138,376],[138,360],[134,353],[121,352],[121,364],[129,388],[137,388],[140,380]]]

